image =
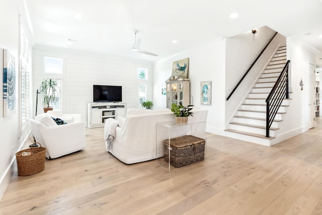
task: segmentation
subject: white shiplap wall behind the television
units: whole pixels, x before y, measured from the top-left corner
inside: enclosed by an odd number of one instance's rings
[[[44,57],[63,58],[64,74],[44,73]],[[87,121],[87,104],[93,102],[93,85],[122,86],[122,100],[128,108],[138,108],[137,68],[148,69],[147,99],[152,100],[153,63],[98,53],[88,53],[64,48],[35,46],[33,49],[34,110],[36,90],[46,77],[62,78],[62,111],[81,113]],[[42,103],[38,100],[38,113]]]

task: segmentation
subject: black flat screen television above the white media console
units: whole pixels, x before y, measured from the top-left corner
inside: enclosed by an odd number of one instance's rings
[[[93,85],[93,102],[121,102],[122,86]]]

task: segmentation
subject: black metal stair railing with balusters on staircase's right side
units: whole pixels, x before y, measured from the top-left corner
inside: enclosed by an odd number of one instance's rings
[[[270,127],[284,98],[288,99],[288,67],[285,64],[280,76],[266,99],[266,137],[270,137]]]

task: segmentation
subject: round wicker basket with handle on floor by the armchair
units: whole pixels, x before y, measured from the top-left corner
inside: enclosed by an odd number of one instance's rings
[[[36,142],[40,147],[31,147],[16,153],[18,175],[27,176],[39,173],[45,169],[46,148],[41,147],[39,142]],[[22,155],[24,152],[29,152],[30,155]]]

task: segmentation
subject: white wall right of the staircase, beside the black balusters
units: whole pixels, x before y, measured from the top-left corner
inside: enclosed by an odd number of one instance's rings
[[[290,106],[287,108],[277,139],[279,141],[308,129],[309,98],[314,86],[309,86],[309,63],[315,65],[315,54],[294,37],[287,38],[287,58],[290,60]],[[303,81],[303,90],[300,81]]]

